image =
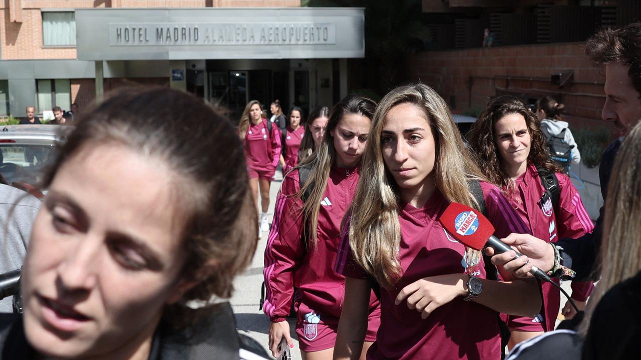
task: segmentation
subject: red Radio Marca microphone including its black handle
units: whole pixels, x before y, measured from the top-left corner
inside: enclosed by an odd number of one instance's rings
[[[491,247],[497,254],[513,250],[519,258],[521,254],[505,245],[503,241],[494,236],[494,226],[486,217],[483,216],[478,210],[472,209],[469,206],[452,202],[447,206],[447,209],[438,218],[438,221],[445,227],[456,240],[467,247],[474,250],[482,250],[483,247]],[[538,277],[544,281],[551,281],[550,277],[545,274],[540,268],[532,265],[530,274]]]

